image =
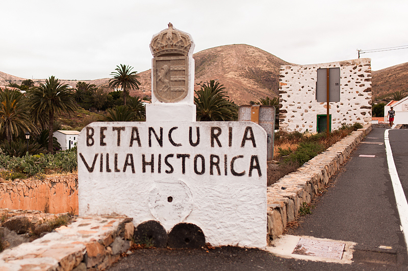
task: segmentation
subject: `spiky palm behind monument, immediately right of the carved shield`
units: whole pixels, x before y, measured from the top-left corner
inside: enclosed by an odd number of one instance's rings
[[[219,82],[211,80],[201,85],[198,91],[194,91],[194,103],[197,107],[197,121],[217,122],[236,121],[238,107],[230,101],[225,87]]]

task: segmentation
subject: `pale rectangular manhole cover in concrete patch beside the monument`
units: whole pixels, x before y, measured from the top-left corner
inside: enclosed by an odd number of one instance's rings
[[[300,238],[292,254],[341,259],[345,243]]]

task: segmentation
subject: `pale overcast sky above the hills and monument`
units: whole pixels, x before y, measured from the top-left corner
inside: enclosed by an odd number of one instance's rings
[[[1,10],[0,71],[30,79],[150,69],[151,37],[169,22],[192,36],[194,52],[243,43],[299,65],[408,45],[406,0],[13,0]],[[408,62],[408,49],[361,57],[380,70]]]

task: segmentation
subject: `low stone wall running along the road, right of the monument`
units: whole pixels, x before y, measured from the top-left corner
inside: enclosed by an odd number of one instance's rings
[[[287,223],[298,216],[303,202],[311,202],[314,195],[328,183],[330,176],[339,170],[340,165],[371,129],[369,124],[352,132],[267,188],[268,243],[283,234]]]

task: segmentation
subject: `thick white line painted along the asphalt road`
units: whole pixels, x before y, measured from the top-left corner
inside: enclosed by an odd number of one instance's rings
[[[401,182],[398,177],[397,168],[394,164],[394,158],[392,156],[392,150],[390,145],[390,139],[388,137],[387,129],[384,133],[384,142],[386,144],[388,171],[391,177],[392,187],[394,189],[395,200],[397,201],[397,209],[399,214],[399,219],[401,221],[401,230],[404,234],[405,244],[408,246],[408,203],[406,202],[405,194],[402,189]]]

